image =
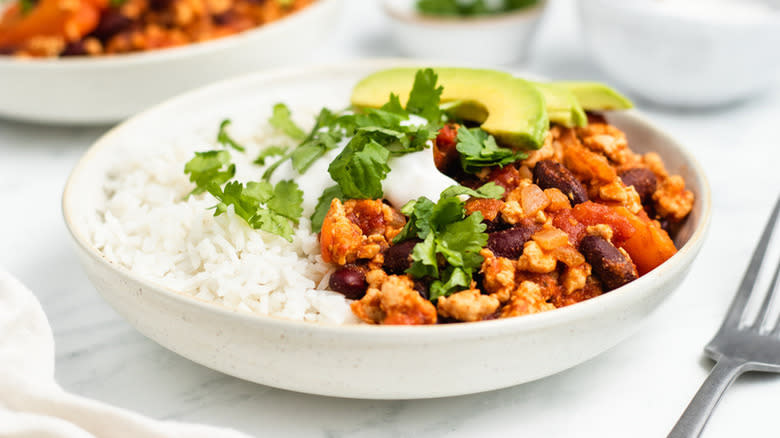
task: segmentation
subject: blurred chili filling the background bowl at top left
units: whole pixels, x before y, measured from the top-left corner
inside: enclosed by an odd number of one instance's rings
[[[0,55],[97,56],[181,46],[270,23],[315,0],[17,0]]]

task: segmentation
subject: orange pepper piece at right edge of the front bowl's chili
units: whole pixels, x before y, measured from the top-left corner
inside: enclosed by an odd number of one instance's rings
[[[636,230],[620,246],[631,256],[639,275],[650,272],[677,253],[669,234],[657,222],[650,220],[644,211],[635,215],[625,207],[615,207],[615,212],[626,218]]]

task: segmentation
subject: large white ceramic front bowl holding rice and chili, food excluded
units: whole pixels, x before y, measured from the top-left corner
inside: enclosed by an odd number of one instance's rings
[[[636,331],[680,284],[702,246],[710,191],[701,167],[634,112],[610,114],[638,151],[658,151],[683,175],[696,203],[677,236],[680,251],[642,278],[569,307],[518,318],[438,326],[323,325],[237,313],[167,289],[106,261],[87,220],[105,199],[108,169],[128,148],[154,150],[223,117],[251,124],[278,101],[343,107],[366,74],[398,65],[371,61],[254,74],[187,93],[111,130],[86,153],[63,196],[78,257],[100,294],[141,333],[209,368],[314,394],[426,398],[503,388],[557,373]],[[255,121],[256,123],[256,121]],[[163,144],[165,144],[163,143]]]

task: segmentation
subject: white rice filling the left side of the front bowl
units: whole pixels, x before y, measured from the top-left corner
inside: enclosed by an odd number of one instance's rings
[[[230,149],[241,182],[260,179],[263,169],[252,160],[261,149],[289,144],[263,129],[257,137],[242,137],[235,129],[234,137],[247,148]],[[215,132],[216,126],[204,138],[213,139]],[[183,169],[195,151],[221,146],[182,143],[117,160],[105,183],[105,206],[92,225],[92,243],[104,257],[170,289],[238,311],[357,322],[343,295],[324,290],[332,267],[322,261],[308,212],[293,242],[252,229],[232,208],[215,217],[210,194],[187,198],[194,185]]]

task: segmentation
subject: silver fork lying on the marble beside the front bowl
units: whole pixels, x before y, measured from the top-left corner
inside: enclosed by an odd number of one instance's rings
[[[704,351],[716,361],[715,367],[669,433],[669,438],[698,437],[726,388],[742,373],[746,371],[780,373],[780,318],[769,328],[763,328],[766,325],[769,307],[777,292],[780,263],[772,275],[769,290],[761,302],[755,321],[748,326],[740,325],[769,241],[772,239],[772,230],[777,222],[778,212],[780,212],[780,198],[753,252],[750,265],[742,277],[742,283],[739,285],[734,301],[731,302],[726,319],[715,337],[704,348]]]

